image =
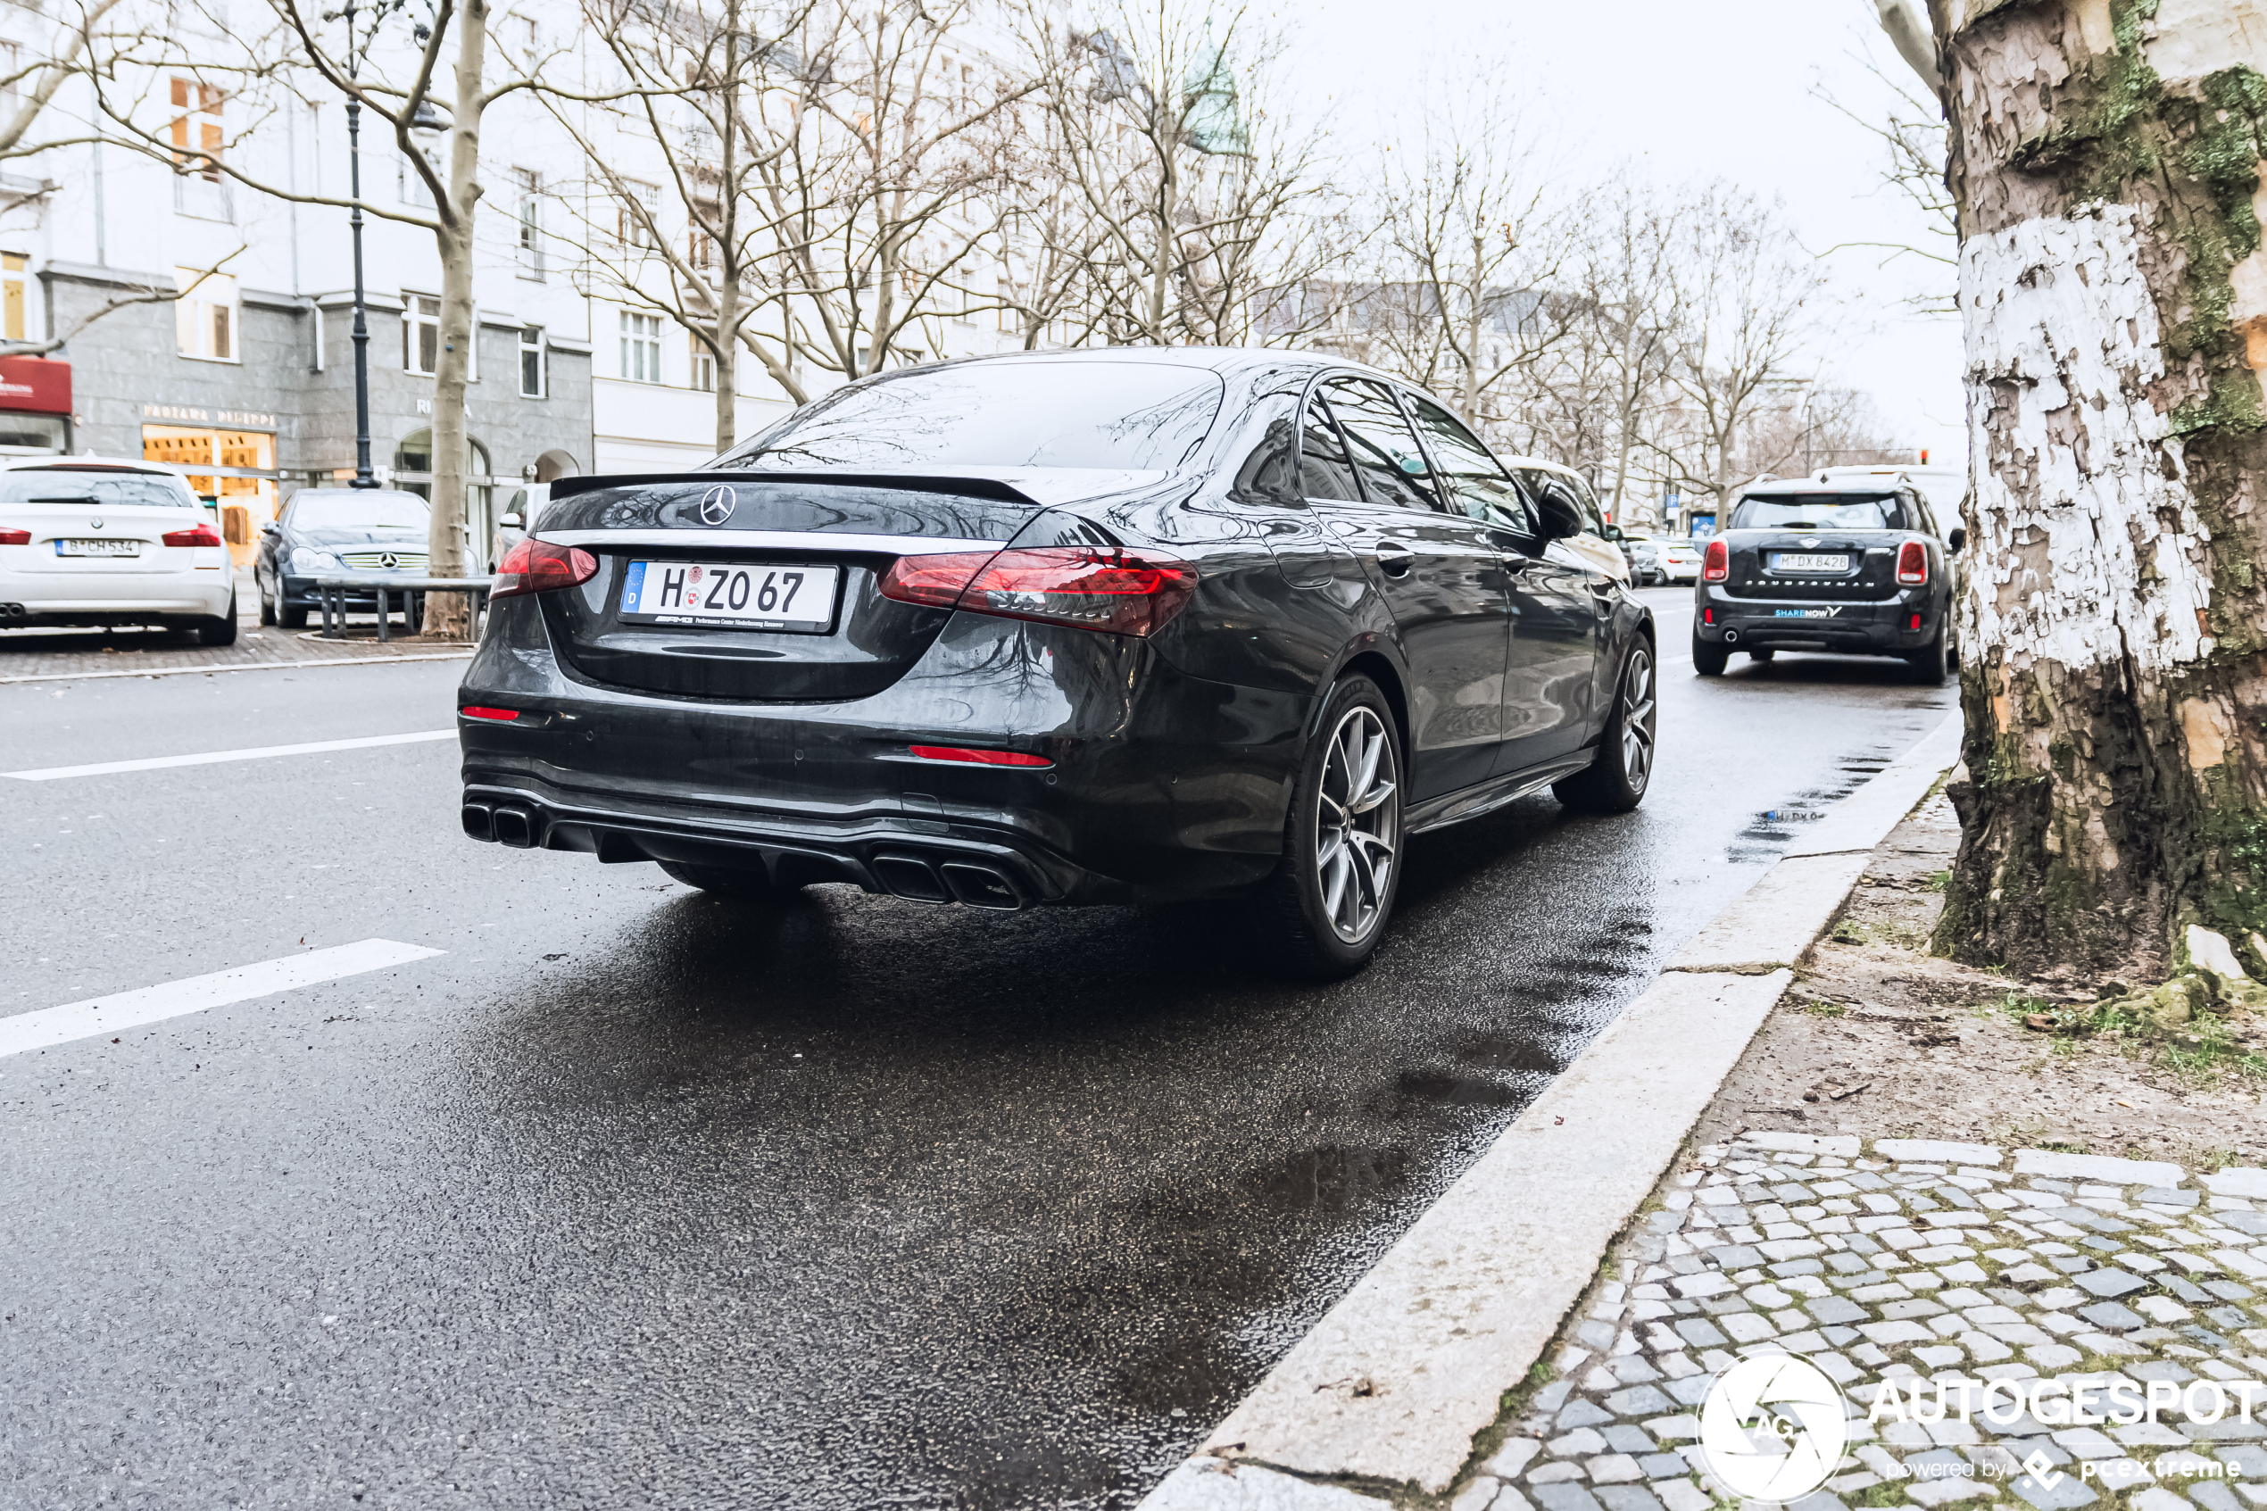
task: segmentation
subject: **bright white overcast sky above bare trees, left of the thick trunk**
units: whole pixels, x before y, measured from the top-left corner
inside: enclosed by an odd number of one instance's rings
[[[1886,91],[1859,54],[1902,70],[1873,0],[1301,0],[1270,5],[1292,41],[1301,109],[1322,97],[1335,127],[1365,138],[1387,113],[1408,120],[1424,82],[1476,79],[1544,122],[1564,172],[1637,163],[1662,183],[1721,177],[1777,195],[1814,251],[1839,242],[1918,238],[1918,211],[1882,186],[1884,150],[1814,88],[1854,111],[1886,113]],[[1900,306],[1950,267],[1879,254],[1827,258],[1852,299],[1841,338],[1820,349],[1829,381],[1873,392],[1893,435],[1963,464],[1961,342],[1950,315]]]

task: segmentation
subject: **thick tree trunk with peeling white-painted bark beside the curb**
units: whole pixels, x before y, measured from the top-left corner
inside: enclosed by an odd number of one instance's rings
[[[1931,0],[1972,489],[1938,945],[2163,972],[2267,924],[2260,0]]]

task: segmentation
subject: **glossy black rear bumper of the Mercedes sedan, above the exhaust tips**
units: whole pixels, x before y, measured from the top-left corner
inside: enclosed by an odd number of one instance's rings
[[[1308,698],[1188,677],[1140,641],[979,616],[868,698],[678,698],[569,675],[528,600],[499,605],[460,702],[521,711],[460,718],[474,838],[977,906],[1254,886],[1281,856],[1310,714]]]

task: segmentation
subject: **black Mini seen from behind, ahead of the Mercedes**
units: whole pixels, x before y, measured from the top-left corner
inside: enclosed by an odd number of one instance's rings
[[[1904,657],[1927,684],[1959,668],[1956,553],[1904,478],[1750,485],[1732,528],[1707,544],[1693,587],[1693,671],[1721,677],[1734,650]]]

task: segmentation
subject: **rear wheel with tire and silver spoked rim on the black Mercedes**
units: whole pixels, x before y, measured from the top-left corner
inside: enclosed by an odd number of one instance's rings
[[[1251,911],[1288,970],[1333,981],[1369,963],[1401,890],[1401,732],[1362,675],[1331,689],[1317,727]]]

